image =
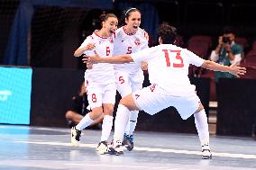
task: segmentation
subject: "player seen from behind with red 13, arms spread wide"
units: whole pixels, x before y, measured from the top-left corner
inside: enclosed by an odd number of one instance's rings
[[[195,93],[187,76],[189,64],[205,67],[214,71],[230,72],[234,76],[244,75],[245,67],[219,65],[213,61],[199,58],[193,52],[172,45],[177,37],[177,30],[168,23],[160,25],[160,45],[142,49],[131,55],[120,55],[114,58],[88,56],[84,62],[92,63],[141,63],[148,62],[151,85],[122,98],[118,105],[114,122],[114,152],[123,154],[122,140],[125,126],[131,111],[147,112],[151,115],[174,106],[181,118],[186,120],[192,114],[195,117],[198,136],[202,146],[202,158],[212,157],[209,147],[209,131],[204,106]]]

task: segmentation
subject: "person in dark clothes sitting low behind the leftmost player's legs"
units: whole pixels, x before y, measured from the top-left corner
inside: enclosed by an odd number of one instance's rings
[[[87,101],[87,86],[83,83],[79,93],[72,97],[71,107],[65,115],[69,128],[76,126],[88,112],[90,112],[90,108]],[[93,121],[89,127],[91,129],[101,129],[103,117],[104,115]]]

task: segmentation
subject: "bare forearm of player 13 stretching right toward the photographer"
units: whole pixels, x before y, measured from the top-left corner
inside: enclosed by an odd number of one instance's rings
[[[227,67],[210,60],[205,60],[201,67],[214,71],[230,72],[237,77],[240,77],[240,75],[244,75],[246,73],[246,67],[238,67],[234,64],[230,67]]]

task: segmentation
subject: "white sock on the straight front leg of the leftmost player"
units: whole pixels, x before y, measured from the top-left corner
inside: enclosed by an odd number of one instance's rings
[[[113,116],[105,115],[102,122],[100,141],[107,141],[113,126]]]

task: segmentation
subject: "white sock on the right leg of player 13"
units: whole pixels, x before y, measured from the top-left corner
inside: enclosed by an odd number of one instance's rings
[[[205,109],[195,113],[194,117],[201,146],[209,146],[209,130]]]

